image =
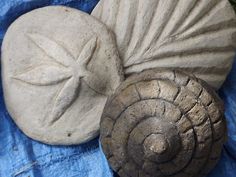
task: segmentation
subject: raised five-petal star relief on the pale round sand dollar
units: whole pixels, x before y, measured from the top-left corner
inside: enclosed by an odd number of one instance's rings
[[[92,37],[83,47],[78,58],[74,58],[63,46],[54,40],[40,34],[27,34],[29,39],[47,56],[53,59],[55,65],[43,64],[33,67],[26,72],[17,74],[14,79],[35,86],[49,86],[64,82],[47,118],[47,124],[52,125],[72,105],[79,93],[81,79],[93,90],[94,82],[99,78],[87,69],[87,65],[97,47],[97,38]],[[90,82],[92,81],[92,82]]]

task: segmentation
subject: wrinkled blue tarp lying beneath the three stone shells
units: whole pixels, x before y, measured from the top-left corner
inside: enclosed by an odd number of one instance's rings
[[[47,5],[66,5],[90,13],[99,0],[0,0],[0,44],[20,15]],[[229,140],[209,177],[236,176],[236,62],[220,90]],[[98,138],[80,146],[49,146],[26,137],[6,111],[0,87],[0,177],[112,177]]]

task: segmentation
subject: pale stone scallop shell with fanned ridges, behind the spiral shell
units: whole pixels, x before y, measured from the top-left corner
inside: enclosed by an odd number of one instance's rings
[[[125,74],[180,68],[216,89],[235,55],[228,0],[101,0],[92,15],[116,35]]]

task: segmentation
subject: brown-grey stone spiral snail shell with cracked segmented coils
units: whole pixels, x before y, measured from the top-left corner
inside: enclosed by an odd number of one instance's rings
[[[205,176],[226,136],[214,90],[177,70],[127,78],[108,99],[100,129],[103,151],[121,177]]]

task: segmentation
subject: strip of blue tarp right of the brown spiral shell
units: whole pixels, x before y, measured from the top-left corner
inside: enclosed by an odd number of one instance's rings
[[[219,94],[225,103],[228,141],[220,162],[209,177],[236,177],[236,60]]]

